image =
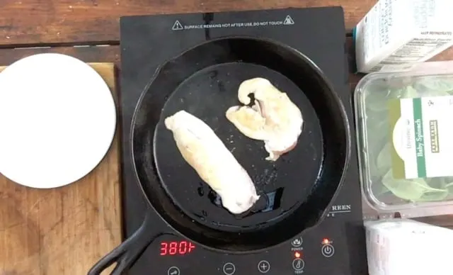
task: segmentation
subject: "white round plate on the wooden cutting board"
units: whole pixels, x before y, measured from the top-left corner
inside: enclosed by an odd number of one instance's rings
[[[33,188],[64,186],[90,173],[115,135],[113,96],[74,57],[25,57],[0,73],[0,174]]]

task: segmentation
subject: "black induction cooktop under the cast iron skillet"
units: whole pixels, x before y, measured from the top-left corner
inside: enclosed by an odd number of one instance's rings
[[[266,38],[304,53],[326,74],[350,119],[351,91],[343,9],[280,9],[121,18],[122,181],[125,237],[139,228],[148,209],[132,166],[130,130],[139,96],[156,69],[207,40],[229,36]],[[367,274],[365,234],[355,142],[341,188],[327,218],[304,235],[258,254],[208,252],[184,237],[164,235],[144,251],[130,275]],[[155,216],[156,227],[166,223]]]

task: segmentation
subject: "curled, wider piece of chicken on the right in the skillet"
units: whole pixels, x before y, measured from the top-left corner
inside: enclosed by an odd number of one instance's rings
[[[244,105],[232,106],[226,111],[226,118],[241,133],[254,140],[263,140],[268,160],[276,161],[280,155],[297,145],[302,133],[304,120],[299,108],[287,94],[279,91],[268,79],[248,79],[239,86],[238,99]]]

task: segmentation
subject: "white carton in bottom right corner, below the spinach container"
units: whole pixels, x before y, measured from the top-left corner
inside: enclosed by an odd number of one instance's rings
[[[365,222],[369,275],[452,275],[453,230],[415,220]]]

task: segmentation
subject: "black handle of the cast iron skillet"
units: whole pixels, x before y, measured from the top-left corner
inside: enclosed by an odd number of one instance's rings
[[[164,233],[155,234],[152,232],[151,218],[147,214],[140,228],[134,232],[125,242],[118,245],[110,253],[99,260],[89,271],[88,275],[101,275],[109,266],[117,265],[110,275],[122,275],[130,269],[135,261],[142,255],[144,249],[147,249],[151,242]]]

